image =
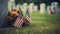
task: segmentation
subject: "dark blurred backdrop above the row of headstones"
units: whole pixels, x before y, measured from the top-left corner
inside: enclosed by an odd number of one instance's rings
[[[46,5],[51,5],[52,2],[58,2],[60,5],[60,0],[15,0],[16,4],[23,4],[23,3],[34,3],[35,5],[38,5],[38,10],[40,9],[40,4],[45,3]]]

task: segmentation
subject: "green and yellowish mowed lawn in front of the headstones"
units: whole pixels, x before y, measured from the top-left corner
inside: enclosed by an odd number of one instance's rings
[[[20,29],[4,30],[3,34],[60,34],[60,14],[30,14],[32,25]]]

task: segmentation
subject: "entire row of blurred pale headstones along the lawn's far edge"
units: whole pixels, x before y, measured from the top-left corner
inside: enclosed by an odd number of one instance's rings
[[[38,6],[34,5],[34,3],[30,3],[29,5],[27,3],[24,3],[23,5],[17,4],[15,5],[15,1],[8,1],[8,10],[11,9],[19,9],[21,8],[22,11],[26,12],[27,9],[32,13],[34,11],[38,11]],[[47,6],[47,11],[49,14],[51,14],[51,12],[57,13],[58,10],[58,3],[57,2],[53,2],[51,3],[51,5]],[[44,14],[46,11],[46,4],[45,3],[41,3],[40,4],[40,13]]]

